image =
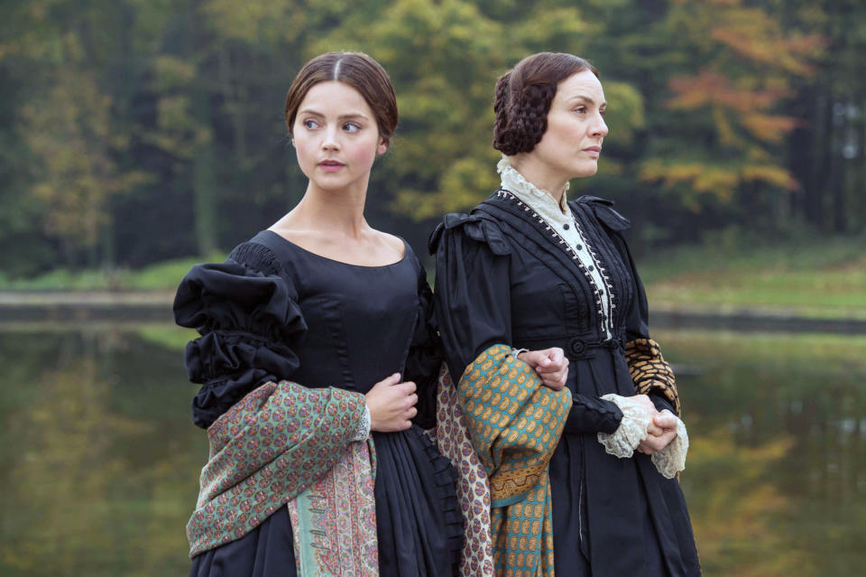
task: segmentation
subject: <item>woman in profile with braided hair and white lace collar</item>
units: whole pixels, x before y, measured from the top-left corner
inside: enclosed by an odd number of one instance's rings
[[[499,190],[431,237],[497,574],[700,574],[676,479],[686,430],[629,222],[608,200],[567,200],[568,181],[597,170],[605,107],[585,60],[522,60],[496,86]]]

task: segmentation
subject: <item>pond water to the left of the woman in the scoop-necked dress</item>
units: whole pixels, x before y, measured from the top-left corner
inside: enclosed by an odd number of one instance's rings
[[[0,574],[184,574],[207,455],[177,350],[116,331],[0,334]]]

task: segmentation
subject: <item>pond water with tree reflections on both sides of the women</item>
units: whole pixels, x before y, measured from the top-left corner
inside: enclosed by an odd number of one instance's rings
[[[0,333],[0,574],[184,574],[207,456],[170,327]],[[851,575],[866,542],[866,339],[655,335],[683,370],[706,575]]]

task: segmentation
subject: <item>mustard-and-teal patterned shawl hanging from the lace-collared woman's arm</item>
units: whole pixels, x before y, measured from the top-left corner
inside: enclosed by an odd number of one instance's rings
[[[535,371],[493,345],[457,386],[470,440],[486,472],[497,575],[552,576],[548,462],[571,408],[571,393],[541,384]]]

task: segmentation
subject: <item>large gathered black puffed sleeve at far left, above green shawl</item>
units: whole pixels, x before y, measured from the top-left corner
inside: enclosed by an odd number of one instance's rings
[[[225,263],[193,266],[175,295],[174,318],[201,335],[185,355],[189,380],[202,385],[192,401],[199,427],[299,367],[292,347],[307,325],[298,294],[263,245],[244,243]]]

